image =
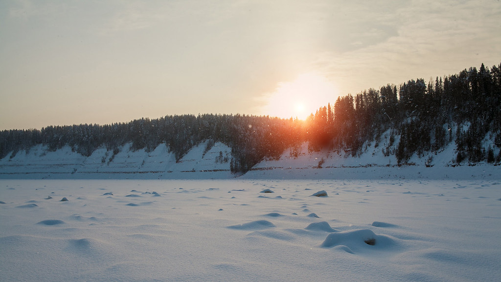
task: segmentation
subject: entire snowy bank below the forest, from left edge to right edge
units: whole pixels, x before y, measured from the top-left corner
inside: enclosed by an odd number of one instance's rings
[[[278,160],[263,160],[245,175],[245,179],[499,179],[501,166],[491,164],[455,164],[455,145],[440,152],[414,155],[407,165],[398,166],[394,152],[398,136],[389,143],[389,132],[379,142],[364,144],[361,155],[351,152],[311,151],[304,143],[294,156],[289,149]],[[0,178],[27,179],[231,179],[231,149],[215,143],[207,152],[206,143],[191,149],[176,162],[165,144],[152,152],[133,151],[131,145],[117,154],[99,148],[89,157],[64,147],[49,152],[35,146],[12,153],[0,160]],[[496,149],[497,150],[497,149]],[[388,152],[390,152],[388,154]],[[116,152],[115,152],[116,153]],[[498,152],[496,151],[495,154]]]

